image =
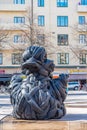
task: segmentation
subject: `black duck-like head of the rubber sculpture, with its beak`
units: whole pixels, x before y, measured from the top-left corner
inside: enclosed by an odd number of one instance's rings
[[[30,46],[23,53],[22,70],[27,70],[29,73],[39,72],[48,76],[54,70],[54,64],[47,59],[47,53],[43,47]]]

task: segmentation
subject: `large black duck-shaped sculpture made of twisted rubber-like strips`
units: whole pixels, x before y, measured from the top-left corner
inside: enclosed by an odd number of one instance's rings
[[[68,75],[52,79],[53,70],[53,61],[47,59],[43,47],[30,46],[25,50],[22,74],[14,75],[9,86],[15,118],[45,120],[65,115]]]

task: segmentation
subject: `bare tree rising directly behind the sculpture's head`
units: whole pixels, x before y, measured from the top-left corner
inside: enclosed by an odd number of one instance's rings
[[[48,32],[44,27],[40,27],[36,24],[37,16],[33,14],[32,18],[31,11],[29,9],[24,17],[26,22],[19,24],[18,27],[20,30],[20,38],[18,42],[21,44],[15,45],[10,43],[10,47],[22,53],[26,47],[38,45],[45,47],[48,52],[52,52],[52,50],[54,52],[56,47],[51,42],[51,39],[55,39],[55,37],[52,36],[51,32]],[[14,26],[14,29],[15,28],[16,26]]]

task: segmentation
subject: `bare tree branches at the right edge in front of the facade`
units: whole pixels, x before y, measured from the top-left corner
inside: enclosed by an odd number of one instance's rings
[[[70,27],[70,29],[72,32],[72,40],[70,42],[75,41],[76,44],[70,44],[69,48],[79,61],[82,60],[82,62],[84,62],[84,58],[81,57],[81,54],[87,54],[87,25],[75,24],[73,27]],[[85,65],[87,65],[87,63]]]

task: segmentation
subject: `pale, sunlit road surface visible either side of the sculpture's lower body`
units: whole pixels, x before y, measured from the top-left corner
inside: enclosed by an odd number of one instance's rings
[[[87,120],[87,92],[69,91],[65,100],[66,115],[60,120]],[[7,93],[0,93],[0,119],[12,114],[12,106]]]

